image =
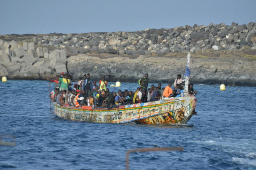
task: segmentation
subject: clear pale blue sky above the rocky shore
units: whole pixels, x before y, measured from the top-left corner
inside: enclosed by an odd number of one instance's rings
[[[256,0],[0,0],[0,35],[256,22]]]

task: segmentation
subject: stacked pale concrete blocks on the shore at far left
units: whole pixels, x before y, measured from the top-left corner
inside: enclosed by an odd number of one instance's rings
[[[0,76],[11,79],[45,79],[66,70],[66,51],[48,51],[47,47],[37,47],[34,43],[22,45],[0,40]]]

